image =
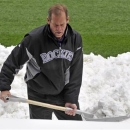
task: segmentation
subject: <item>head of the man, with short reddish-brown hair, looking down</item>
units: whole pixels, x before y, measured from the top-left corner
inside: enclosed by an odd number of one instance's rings
[[[54,36],[62,38],[69,22],[68,10],[64,5],[56,4],[48,10],[47,22]]]

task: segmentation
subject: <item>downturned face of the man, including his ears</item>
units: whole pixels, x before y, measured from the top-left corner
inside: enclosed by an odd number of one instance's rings
[[[51,20],[48,19],[48,24],[50,25],[50,29],[54,36],[58,39],[62,38],[66,25],[69,22],[69,17],[66,18],[66,15],[64,12],[62,12],[60,15],[54,15],[52,14]]]

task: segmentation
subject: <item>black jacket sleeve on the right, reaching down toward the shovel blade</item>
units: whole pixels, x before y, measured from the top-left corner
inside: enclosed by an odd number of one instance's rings
[[[83,71],[83,51],[82,51],[82,38],[78,34],[76,36],[76,51],[70,66],[70,79],[69,83],[64,88],[64,100],[69,103],[77,103],[79,92],[82,83]]]

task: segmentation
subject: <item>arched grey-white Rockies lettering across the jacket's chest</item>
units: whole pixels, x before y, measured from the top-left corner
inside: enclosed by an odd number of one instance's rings
[[[58,58],[72,61],[73,55],[74,55],[73,52],[64,49],[55,49],[53,51],[40,54],[43,64]]]

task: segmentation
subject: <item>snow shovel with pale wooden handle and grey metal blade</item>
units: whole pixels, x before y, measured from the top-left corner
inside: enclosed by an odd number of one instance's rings
[[[60,110],[60,111],[64,111],[64,112],[67,110],[72,110],[71,108],[68,108],[68,107],[61,107],[61,106],[51,105],[48,103],[28,100],[28,99],[16,97],[13,95],[11,95],[10,97],[6,97],[6,100],[10,101],[10,102],[28,103],[28,104],[46,107],[46,108],[50,108],[50,109],[54,109],[54,110]],[[124,121],[124,120],[130,118],[130,116],[94,118],[93,114],[90,114],[90,113],[87,113],[87,112],[81,111],[81,110],[76,110],[76,114],[81,115],[86,121],[97,121],[97,122],[120,122],[120,121]]]

